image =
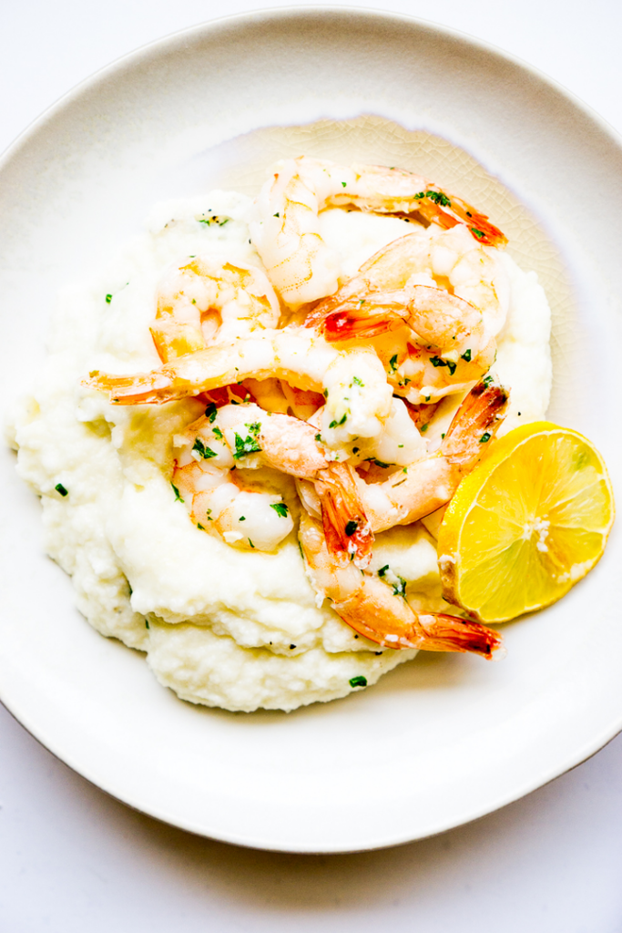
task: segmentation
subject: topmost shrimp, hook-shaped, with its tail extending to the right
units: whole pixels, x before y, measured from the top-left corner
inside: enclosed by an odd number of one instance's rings
[[[462,226],[477,243],[505,245],[503,233],[461,199],[421,175],[377,165],[284,160],[259,193],[251,237],[270,282],[293,308],[324,298],[339,284],[339,257],[320,235],[318,213],[352,205],[379,214],[415,214],[449,229]]]

